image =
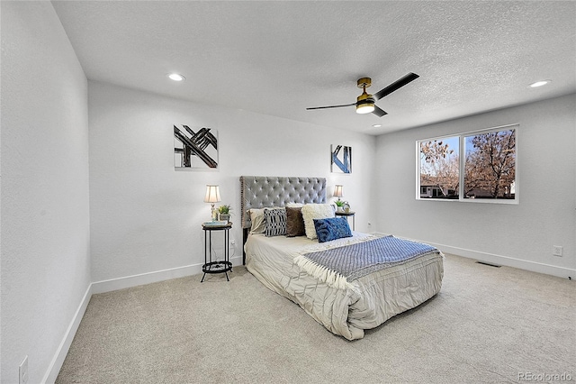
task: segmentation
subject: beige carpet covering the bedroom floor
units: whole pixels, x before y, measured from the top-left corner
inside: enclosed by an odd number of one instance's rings
[[[197,275],[94,295],[57,382],[576,378],[574,281],[446,255],[437,297],[348,342],[243,267],[229,276],[229,282],[212,275],[201,284]]]

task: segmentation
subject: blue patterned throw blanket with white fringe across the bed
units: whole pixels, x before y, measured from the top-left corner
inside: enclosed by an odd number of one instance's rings
[[[299,265],[306,265],[308,269],[328,269],[329,274],[336,272],[347,281],[352,281],[376,270],[383,270],[428,253],[439,252],[437,248],[428,244],[386,236],[326,251],[305,253],[302,255],[305,261],[301,260]]]

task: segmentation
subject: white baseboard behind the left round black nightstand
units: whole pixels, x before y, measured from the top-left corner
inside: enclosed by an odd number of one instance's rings
[[[232,265],[242,265],[242,256],[230,258]],[[184,267],[171,268],[169,270],[156,270],[141,273],[139,275],[125,276],[118,279],[96,281],[92,283],[92,293],[104,293],[112,290],[131,288],[144,284],[156,283],[169,279],[184,278],[202,273],[202,264],[185,265]]]

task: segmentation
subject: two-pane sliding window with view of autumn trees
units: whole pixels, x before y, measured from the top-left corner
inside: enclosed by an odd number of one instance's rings
[[[417,199],[518,202],[517,128],[417,142]]]

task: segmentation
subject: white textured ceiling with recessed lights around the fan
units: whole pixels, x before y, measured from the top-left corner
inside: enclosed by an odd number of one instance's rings
[[[362,133],[576,92],[574,2],[52,4],[89,79]],[[375,93],[408,72],[420,78],[376,103],[383,117],[305,109],[356,102],[358,78]]]

